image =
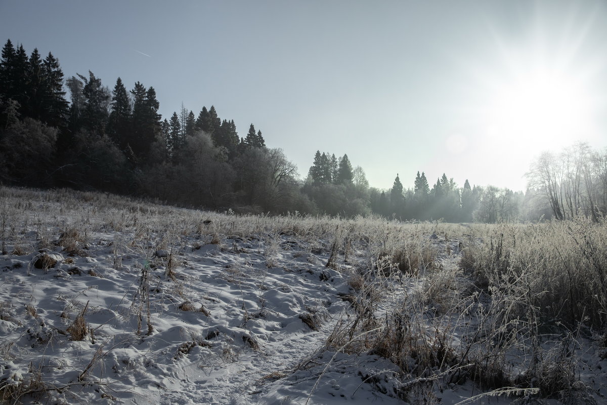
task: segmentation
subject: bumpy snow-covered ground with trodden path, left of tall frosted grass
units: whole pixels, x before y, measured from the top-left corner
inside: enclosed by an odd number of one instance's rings
[[[353,350],[347,328],[358,334],[351,341],[375,338],[382,319],[437,283],[424,271],[376,277],[364,243],[345,257],[330,239],[279,232],[267,218],[258,219],[269,225],[256,233],[218,233],[216,214],[178,210],[201,221],[171,229],[170,219],[154,221],[177,210],[32,196],[4,197],[10,235],[0,256],[0,392],[8,403],[523,401],[447,381],[441,367],[404,375],[381,353]],[[422,238],[436,253],[437,274],[459,274],[458,239]],[[336,260],[327,267],[332,251]],[[373,292],[358,289],[361,279],[375,285],[368,319],[378,324],[366,336],[351,326],[360,315],[357,294]],[[457,299],[453,288],[466,282],[457,279],[426,309]],[[464,335],[459,328],[450,342],[463,344]],[[544,340],[547,349],[558,345]],[[588,387],[578,403],[607,403],[602,349],[577,336],[574,350]]]

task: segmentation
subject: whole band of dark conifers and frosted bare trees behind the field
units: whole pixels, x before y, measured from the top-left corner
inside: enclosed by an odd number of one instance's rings
[[[52,53],[28,56],[9,39],[0,60],[0,184],[95,189],[237,213],[390,220],[598,220],[607,209],[607,151],[583,143],[540,155],[526,192],[469,180],[460,186],[446,173],[429,180],[424,171],[406,174],[413,188],[396,174],[382,190],[344,151],[316,151],[300,180],[253,123],[240,136],[214,106],[195,112],[182,103],[165,118],[159,108],[152,86],[118,77],[110,88],[92,71],[64,79]]]

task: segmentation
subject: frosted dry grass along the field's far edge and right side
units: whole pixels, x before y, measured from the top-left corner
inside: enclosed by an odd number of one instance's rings
[[[268,267],[279,264],[286,242],[293,247],[293,256],[307,254],[316,262],[324,256],[327,267],[350,272],[351,287],[342,296],[351,304],[351,316],[337,323],[325,349],[390,359],[403,376],[417,381],[403,383],[407,387],[399,394],[403,397],[413,395],[416,384],[419,391],[422,384],[433,381],[471,380],[487,389],[537,387],[543,397],[565,402],[582,398],[591,403],[578,381],[575,355],[567,349],[573,343],[563,338],[551,351],[542,349],[540,341],[542,333],[566,336],[566,330],[578,330],[602,335],[607,345],[605,220],[592,223],[580,217],[529,225],[460,226],[385,222],[375,217],[235,215],[185,211],[123,197],[109,199],[90,192],[5,187],[0,187],[0,200],[7,213],[0,218],[5,251],[52,248],[55,240],[66,253],[81,256],[90,234],[120,231],[124,237],[114,241],[115,268],[122,270],[122,256],[137,251],[153,257],[149,266],[165,266],[166,278],[175,285],[175,268],[181,265],[178,252],[188,238],[199,241],[189,245],[194,249],[209,242],[224,249],[232,245],[228,237],[256,240]],[[430,239],[431,234],[438,235],[438,240]],[[154,257],[158,250],[171,253]],[[459,266],[442,264],[445,256],[455,254],[461,257]],[[41,265],[49,270],[54,264]],[[151,333],[146,270],[141,269],[137,311],[140,322],[143,314],[148,316]],[[232,271],[237,279],[240,269],[225,271]],[[387,285],[401,286],[405,297],[379,313],[379,305],[392,294]],[[184,300],[178,305],[180,310],[210,316],[205,307],[192,302],[196,298],[180,296]],[[37,315],[33,307],[25,312]],[[10,308],[2,316],[16,319]],[[300,318],[312,329],[324,322],[319,312],[310,309]],[[74,340],[86,336],[84,310],[67,332]],[[260,350],[251,336],[242,339],[251,349]],[[175,358],[187,355],[200,342],[191,339],[181,344]],[[521,347],[533,355],[517,359],[515,372],[507,353]],[[225,350],[226,359],[237,357],[231,347]],[[4,395],[11,388],[0,390]]]

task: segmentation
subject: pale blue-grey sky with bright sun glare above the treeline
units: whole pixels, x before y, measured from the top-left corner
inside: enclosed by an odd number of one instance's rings
[[[531,162],[607,147],[607,2],[13,1],[0,41],[153,86],[160,113],[215,106],[305,177],[347,154],[371,186],[416,172],[524,190]]]

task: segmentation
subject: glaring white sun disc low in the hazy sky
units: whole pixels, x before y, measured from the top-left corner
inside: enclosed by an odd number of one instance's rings
[[[493,86],[487,126],[520,146],[566,145],[586,132],[591,95],[574,75],[534,67]]]

